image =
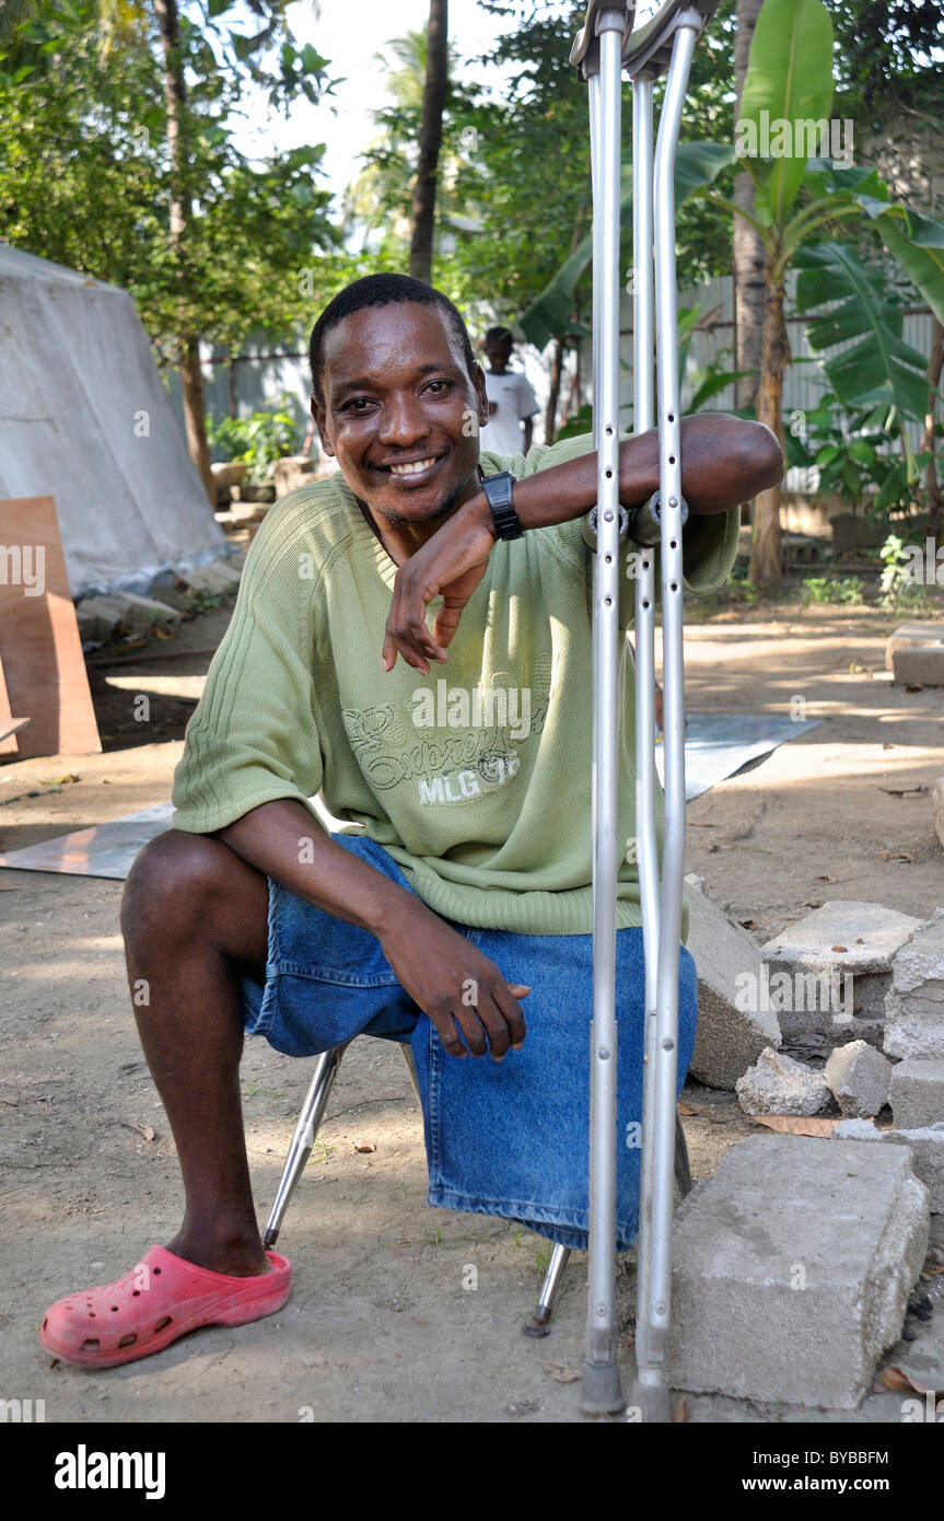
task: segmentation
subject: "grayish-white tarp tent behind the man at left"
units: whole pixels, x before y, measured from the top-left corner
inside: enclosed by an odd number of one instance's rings
[[[226,555],[126,291],[0,245],[0,499],[53,496],[73,598]]]

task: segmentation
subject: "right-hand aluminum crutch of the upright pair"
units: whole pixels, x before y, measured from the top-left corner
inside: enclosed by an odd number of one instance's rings
[[[632,33],[634,432],[654,424],[658,373],[660,490],[634,516],[635,830],[646,954],[643,1153],[637,1243],[634,1419],[669,1421],[664,1377],[672,1290],[672,1206],[678,1113],[678,964],[686,852],[681,417],[676,344],[675,151],[695,43],[718,0],[667,0]],[[652,85],[667,68],[652,157]],[[654,280],[655,274],[655,280]],[[654,324],[655,315],[655,324]],[[655,330],[654,330],[655,329]],[[654,353],[655,338],[655,353]],[[661,558],[664,686],[664,841],[657,853],[655,545]]]

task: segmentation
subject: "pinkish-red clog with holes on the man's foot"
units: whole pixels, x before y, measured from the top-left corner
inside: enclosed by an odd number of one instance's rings
[[[292,1291],[292,1264],[266,1252],[271,1273],[230,1278],[152,1246],[125,1278],[56,1300],[40,1340],[79,1367],[116,1367],[161,1352],[198,1326],[242,1326],[274,1316]]]

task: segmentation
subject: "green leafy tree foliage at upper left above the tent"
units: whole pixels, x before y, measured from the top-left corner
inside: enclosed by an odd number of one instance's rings
[[[296,50],[268,12],[237,30],[225,0],[181,18],[187,102],[187,192],[193,219],[170,252],[170,176],[157,27],[128,0],[20,0],[0,33],[0,237],[126,287],[158,357],[179,339],[237,348],[251,329],[290,332],[310,315],[299,274],[330,257],[337,233],[318,184],[322,146],[266,161],[233,137],[251,84],[272,105],[318,99],[325,61]],[[260,41],[261,38],[261,41]],[[263,56],[265,53],[265,56]],[[182,287],[182,300],[181,300]]]

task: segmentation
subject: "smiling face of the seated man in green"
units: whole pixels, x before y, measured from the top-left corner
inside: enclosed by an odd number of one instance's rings
[[[477,491],[485,376],[468,376],[441,307],[366,307],[324,341],[324,406],[312,412],[325,453],[374,514],[435,528]]]

